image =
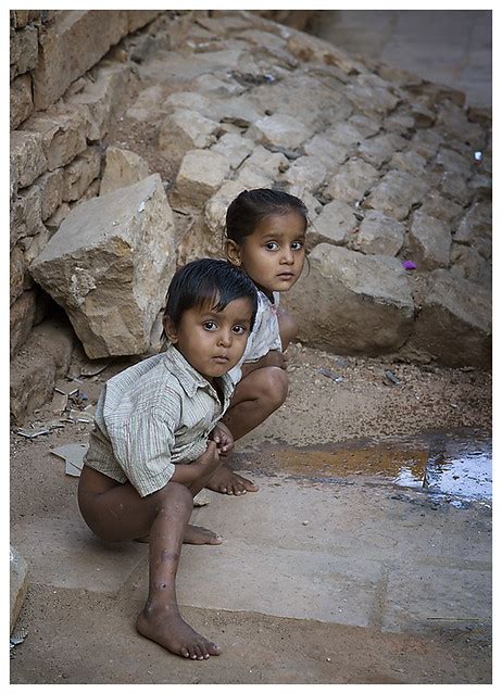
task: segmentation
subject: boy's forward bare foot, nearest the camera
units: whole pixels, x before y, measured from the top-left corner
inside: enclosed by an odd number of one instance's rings
[[[145,608],[136,621],[138,632],[159,643],[171,653],[192,660],[205,660],[210,655],[219,655],[222,649],[212,641],[197,633],[181,619],[175,607],[148,614]]]

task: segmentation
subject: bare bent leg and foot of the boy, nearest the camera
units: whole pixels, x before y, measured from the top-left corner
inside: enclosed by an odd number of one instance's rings
[[[193,505],[183,484],[167,483],[141,497],[131,484],[117,484],[84,467],[78,504],[90,529],[111,542],[150,534],[149,592],[137,620],[140,634],[172,653],[202,660],[219,655],[219,647],[197,633],[181,618],[176,601],[176,572]]]

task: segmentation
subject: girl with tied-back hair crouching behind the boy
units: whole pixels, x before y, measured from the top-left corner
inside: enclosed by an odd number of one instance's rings
[[[305,260],[308,210],[294,195],[260,188],[241,192],[226,215],[226,254],[244,270],[259,293],[253,331],[240,363],[230,371],[237,383],[223,421],[239,439],[258,427],[286,400],[285,351],[297,335],[294,318],[278,308],[280,292],[291,289]],[[244,494],[258,487],[222,466],[209,489]]]

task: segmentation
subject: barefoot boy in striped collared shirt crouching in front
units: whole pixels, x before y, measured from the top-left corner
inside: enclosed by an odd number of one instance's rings
[[[226,261],[204,258],[171,282],[164,331],[171,344],[110,379],[78,485],[80,513],[99,538],[149,535],[149,595],[137,630],[172,653],[205,659],[219,647],[180,617],[175,579],[184,542],[219,544],[188,525],[193,496],[233,447],[225,425],[256,313],[253,283]]]

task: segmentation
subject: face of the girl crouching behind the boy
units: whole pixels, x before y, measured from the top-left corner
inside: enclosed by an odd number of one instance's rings
[[[240,244],[228,240],[227,255],[268,296],[273,291],[287,291],[303,269],[305,219],[293,211],[268,215]]]

